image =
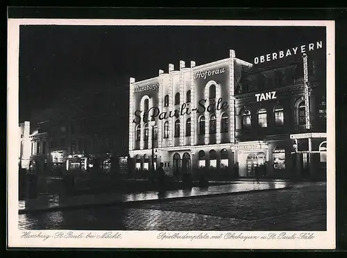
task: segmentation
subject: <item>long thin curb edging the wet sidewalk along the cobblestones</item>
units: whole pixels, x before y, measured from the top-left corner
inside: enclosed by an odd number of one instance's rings
[[[214,196],[230,196],[230,195],[237,195],[242,193],[253,193],[253,192],[259,192],[259,191],[275,191],[275,190],[286,190],[291,189],[292,186],[283,187],[283,188],[277,188],[277,189],[260,189],[260,190],[248,190],[248,191],[237,191],[237,192],[231,192],[231,193],[211,193],[201,196],[181,196],[181,197],[174,197],[174,198],[162,198],[162,199],[153,199],[153,200],[130,200],[127,202],[121,202],[119,200],[113,201],[110,203],[90,203],[90,204],[83,204],[83,205],[74,205],[74,206],[65,206],[65,207],[46,207],[42,209],[19,209],[18,214],[36,214],[36,213],[44,213],[44,212],[58,212],[63,210],[71,210],[71,209],[87,209],[92,207],[100,207],[100,206],[133,206],[135,204],[146,204],[146,203],[167,203],[171,201],[176,200],[189,200],[189,199],[197,199],[197,198],[209,198]]]

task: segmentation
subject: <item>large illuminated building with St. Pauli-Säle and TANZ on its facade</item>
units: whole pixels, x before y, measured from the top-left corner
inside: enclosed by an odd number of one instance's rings
[[[312,53],[308,62],[298,55],[294,62],[253,65],[230,50],[223,60],[190,67],[180,61],[177,71],[169,64],[155,78],[130,78],[135,171],[163,162],[168,175],[179,177],[202,169],[210,177],[253,177],[255,166],[266,164],[267,177],[318,175],[326,144],[325,70],[319,77]]]

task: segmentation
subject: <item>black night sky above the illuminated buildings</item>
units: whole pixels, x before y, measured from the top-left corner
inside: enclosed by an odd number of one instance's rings
[[[240,26],[21,26],[19,42],[19,121],[49,107],[65,89],[81,91],[106,83],[127,87],[178,69],[228,58],[253,62],[255,56],[325,42],[325,28]]]

